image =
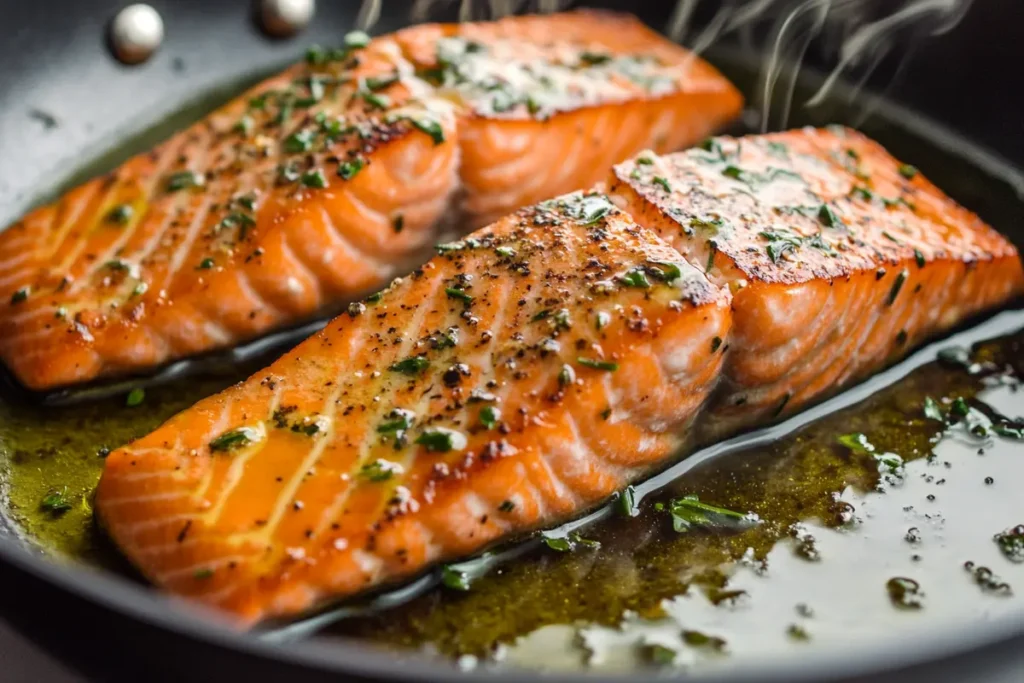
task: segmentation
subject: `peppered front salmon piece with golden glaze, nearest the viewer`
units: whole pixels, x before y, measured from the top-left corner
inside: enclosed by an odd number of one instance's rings
[[[606,499],[678,453],[730,297],[602,195],[521,210],[112,453],[102,523],[250,625]]]

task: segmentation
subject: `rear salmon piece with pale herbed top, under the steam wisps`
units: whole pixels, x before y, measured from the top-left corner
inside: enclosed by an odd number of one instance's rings
[[[641,150],[693,144],[742,106],[714,67],[625,14],[432,25],[395,39],[462,113],[461,208],[475,226],[590,187]]]

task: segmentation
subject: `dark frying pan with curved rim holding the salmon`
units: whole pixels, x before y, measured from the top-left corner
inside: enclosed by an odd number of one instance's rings
[[[268,73],[295,58],[309,42],[337,42],[353,25],[358,5],[354,0],[322,0],[314,25],[298,40],[274,41],[260,33],[247,0],[151,3],[164,17],[167,39],[148,62],[127,68],[110,56],[103,38],[122,4],[117,0],[0,0],[0,224],[80,171],[95,169],[96,159],[111,166],[126,157],[133,151],[130,140],[142,144],[137,134],[155,122],[188,103],[203,108],[196,99],[203,93]],[[587,4],[639,11],[659,27],[672,3]],[[409,3],[388,0],[377,30],[397,28],[408,10]],[[967,158],[977,173],[958,179],[965,189],[957,199],[983,217],[1000,214],[1000,226],[1024,206],[986,199],[987,189],[996,185],[1009,197],[1011,190],[1024,189],[1024,174],[1013,166],[1024,165],[1024,119],[1019,114],[1024,73],[1004,68],[1024,58],[1021,27],[1024,4],[975,0],[956,29],[918,51],[871,120],[885,131],[882,141],[897,153],[899,131],[911,128],[942,150],[932,166],[923,164],[939,184],[951,180],[952,173],[942,167],[943,155]],[[870,84],[885,85],[890,69],[884,63]],[[1015,236],[1018,243],[1020,234]],[[443,661],[396,656],[337,638],[271,645],[232,633],[216,618],[129,580],[58,564],[10,528],[0,528],[0,611],[6,620],[97,680],[534,678],[514,671],[460,674]],[[927,638],[901,640],[897,634],[890,645],[877,649],[812,654],[701,680],[1012,681],[1021,680],[1022,672],[1024,618],[1017,615]]]

